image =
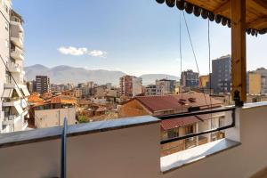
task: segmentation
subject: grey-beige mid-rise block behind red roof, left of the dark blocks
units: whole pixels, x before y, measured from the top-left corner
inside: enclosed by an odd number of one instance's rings
[[[175,80],[160,79],[156,80],[157,95],[175,93]]]

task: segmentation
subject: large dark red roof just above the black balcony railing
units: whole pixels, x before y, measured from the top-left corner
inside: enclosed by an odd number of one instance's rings
[[[135,100],[140,101],[144,107],[150,111],[184,109],[190,107],[200,107],[200,109],[222,105],[222,101],[214,100],[208,94],[203,93],[182,93],[162,96],[137,96]],[[133,100],[134,100],[133,99]],[[210,102],[211,101],[211,102]]]

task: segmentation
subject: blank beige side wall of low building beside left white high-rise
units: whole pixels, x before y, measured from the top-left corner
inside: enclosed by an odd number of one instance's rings
[[[63,125],[65,117],[68,125],[74,125],[77,122],[75,108],[36,110],[35,125],[37,128]]]

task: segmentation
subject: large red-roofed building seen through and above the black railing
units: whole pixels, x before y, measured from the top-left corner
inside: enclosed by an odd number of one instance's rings
[[[206,98],[206,99],[205,99]],[[206,101],[205,101],[206,100]],[[212,103],[212,104],[211,104]],[[214,100],[203,93],[183,93],[160,96],[136,96],[118,108],[118,117],[137,117],[150,115],[160,117],[196,110],[216,109],[222,107],[222,101]],[[224,114],[216,113],[194,117],[174,117],[161,121],[162,140],[177,136],[193,134],[224,125]],[[162,145],[162,156],[189,149],[191,147],[222,138],[223,133],[206,134],[190,140]]]

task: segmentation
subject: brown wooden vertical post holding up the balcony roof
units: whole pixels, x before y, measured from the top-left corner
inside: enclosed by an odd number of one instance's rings
[[[231,95],[237,106],[247,101],[246,1],[231,0]]]

